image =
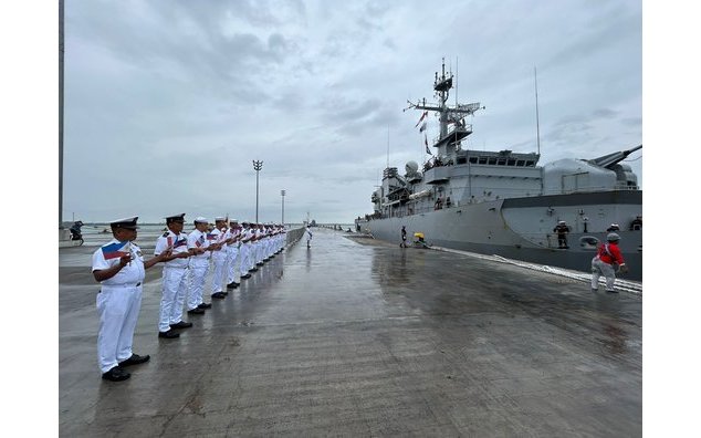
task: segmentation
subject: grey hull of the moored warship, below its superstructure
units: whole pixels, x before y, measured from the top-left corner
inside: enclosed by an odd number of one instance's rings
[[[627,231],[630,218],[639,215],[642,192],[603,191],[536,196],[458,205],[441,210],[383,219],[359,220],[363,231],[376,239],[401,241],[406,226],[411,240],[414,232],[422,232],[428,244],[496,254],[532,263],[589,272],[596,246],[592,238],[605,241],[606,227],[620,223],[620,248],[629,272],[628,280],[642,280],[642,231]],[[589,215],[587,223],[583,220]],[[552,231],[555,218],[568,217],[573,227],[568,249],[557,248]],[[587,228],[585,232],[585,227]]]

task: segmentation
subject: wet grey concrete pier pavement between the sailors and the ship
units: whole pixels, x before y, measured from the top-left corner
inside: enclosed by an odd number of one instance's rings
[[[61,249],[60,435],[642,434],[641,295],[346,234],[315,229],[177,340],[146,271],[151,359],[121,383],[97,368],[95,248]]]

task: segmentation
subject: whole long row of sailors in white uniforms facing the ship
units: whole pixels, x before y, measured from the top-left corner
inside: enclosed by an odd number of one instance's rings
[[[224,299],[229,289],[251,278],[258,267],[281,252],[286,231],[280,225],[262,225],[215,218],[208,229],[206,218],[195,219],[195,230],[182,232],[185,213],[166,218],[168,231],[158,237],[154,258],[144,260],[134,243],[138,217],[111,222],[114,239],[93,253],[93,275],[101,282],[97,294],[100,334],[97,356],[106,380],[127,379],[124,367],[147,362],[132,351],[134,330],[142,303],[145,270],[164,263],[158,337],[177,338],[178,328],[192,323],[182,320],[184,305],[190,315],[203,314],[211,307],[203,292],[210,264],[213,267],[211,298]]]

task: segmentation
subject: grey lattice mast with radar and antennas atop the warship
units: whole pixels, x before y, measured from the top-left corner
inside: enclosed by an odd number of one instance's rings
[[[464,123],[467,115],[474,114],[478,109],[484,109],[480,107],[480,103],[471,103],[467,105],[460,105],[456,102],[454,106],[447,104],[450,88],[452,88],[453,75],[448,73],[446,75],[446,59],[442,59],[442,70],[440,76],[436,72],[436,79],[433,81],[433,91],[438,103],[427,104],[426,97],[422,101],[418,101],[416,104],[409,102],[409,108],[432,111],[439,114],[439,136],[433,143],[433,147],[438,148],[437,155],[450,159],[456,153],[456,147],[460,145],[460,142],[472,134],[472,125]],[[449,125],[454,125],[452,131],[449,131]]]

